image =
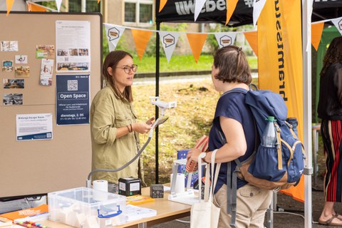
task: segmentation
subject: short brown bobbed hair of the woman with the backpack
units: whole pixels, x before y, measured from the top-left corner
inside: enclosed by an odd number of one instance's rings
[[[237,46],[225,46],[219,48],[214,55],[214,67],[219,68],[219,73],[214,76],[224,83],[245,83],[252,82],[251,69],[242,48]]]

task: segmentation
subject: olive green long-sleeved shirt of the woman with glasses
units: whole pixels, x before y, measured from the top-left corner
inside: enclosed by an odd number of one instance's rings
[[[138,133],[128,133],[116,138],[118,128],[136,123],[132,103],[115,95],[111,86],[105,86],[90,106],[90,133],[92,145],[92,170],[118,169],[138,153]],[[108,180],[118,185],[120,177],[140,177],[142,183],[142,160],[137,159],[118,172],[95,172],[93,180]]]

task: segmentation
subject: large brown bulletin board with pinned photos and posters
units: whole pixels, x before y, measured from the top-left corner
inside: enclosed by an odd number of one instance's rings
[[[57,124],[56,75],[88,75],[86,94],[91,103],[101,87],[102,16],[15,11],[6,16],[0,11],[0,21],[0,199],[85,187],[91,171],[90,126]],[[56,21],[87,21],[89,46],[69,49],[67,53],[56,50]],[[37,46],[50,49],[48,56]],[[63,72],[68,64],[58,63],[57,55],[64,54],[66,61],[72,59],[70,56],[81,56],[87,64],[78,64],[81,72]],[[62,72],[57,71],[57,64]],[[48,72],[45,78],[41,72]],[[52,138],[18,140],[18,115],[41,113],[52,116]]]

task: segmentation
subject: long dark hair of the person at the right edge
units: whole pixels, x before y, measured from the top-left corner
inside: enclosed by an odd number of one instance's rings
[[[323,58],[323,68],[320,76],[323,76],[326,73],[326,70],[333,63],[341,63],[342,62],[342,36],[338,36],[333,38],[331,43],[329,44],[328,50],[326,51],[326,56]]]

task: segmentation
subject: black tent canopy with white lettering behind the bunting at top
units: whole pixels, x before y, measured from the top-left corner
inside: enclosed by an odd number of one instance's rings
[[[284,0],[285,1],[285,0]],[[226,23],[226,1],[207,0],[197,23]],[[253,0],[239,0],[237,7],[229,21],[229,26],[242,26],[253,24]],[[159,9],[160,0],[156,1]],[[162,11],[157,12],[157,22],[193,22],[195,12],[195,0],[169,0]],[[314,10],[311,21],[323,21],[342,16],[342,0],[314,0]]]

